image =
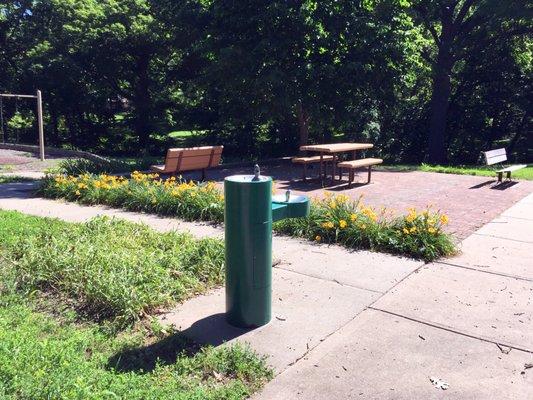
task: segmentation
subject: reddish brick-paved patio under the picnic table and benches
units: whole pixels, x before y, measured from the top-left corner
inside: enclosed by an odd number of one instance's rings
[[[225,176],[242,173],[250,174],[251,171],[249,168],[221,169],[209,172],[208,178],[221,182]],[[385,206],[396,213],[406,213],[409,207],[425,208],[431,204],[449,215],[448,229],[458,239],[474,233],[533,191],[533,181],[496,186],[495,180],[490,177],[420,171],[376,171],[372,173],[370,185],[354,184],[350,189],[346,187],[346,181],[324,189],[316,180],[291,181],[291,178],[299,179],[301,172],[289,166],[265,167],[262,173],[272,176],[280,191],[291,189],[311,197],[321,197],[326,190],[354,199],[363,196],[365,203]],[[366,182],[366,173],[361,173],[359,179]]]

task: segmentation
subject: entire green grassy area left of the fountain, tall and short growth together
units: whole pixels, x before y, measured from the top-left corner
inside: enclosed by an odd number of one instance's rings
[[[247,398],[272,377],[263,358],[200,347],[148,315],[220,284],[222,246],[0,211],[0,398]]]

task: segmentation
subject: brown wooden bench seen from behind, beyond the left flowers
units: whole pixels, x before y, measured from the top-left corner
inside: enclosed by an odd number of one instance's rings
[[[165,164],[152,165],[150,170],[169,175],[202,170],[202,180],[205,180],[205,171],[208,168],[216,167],[220,163],[223,149],[224,146],[168,149]]]

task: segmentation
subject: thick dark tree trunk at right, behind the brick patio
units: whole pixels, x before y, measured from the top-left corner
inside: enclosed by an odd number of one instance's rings
[[[450,106],[453,61],[450,47],[443,44],[433,66],[433,91],[431,94],[431,120],[428,140],[428,162],[444,164],[446,154],[446,120]]]

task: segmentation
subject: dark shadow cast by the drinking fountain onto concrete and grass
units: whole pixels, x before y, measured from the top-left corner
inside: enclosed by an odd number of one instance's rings
[[[158,342],[118,352],[108,360],[107,368],[118,372],[149,373],[158,364],[175,363],[180,355],[194,356],[202,349],[198,343],[218,346],[250,330],[229,325],[223,313],[213,314]]]

